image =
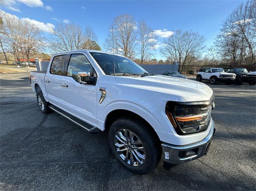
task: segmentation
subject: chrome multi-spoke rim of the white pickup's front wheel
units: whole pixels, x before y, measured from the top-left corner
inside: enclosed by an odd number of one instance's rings
[[[146,160],[146,151],[141,140],[131,131],[120,129],[114,137],[118,155],[128,164],[136,167]]]

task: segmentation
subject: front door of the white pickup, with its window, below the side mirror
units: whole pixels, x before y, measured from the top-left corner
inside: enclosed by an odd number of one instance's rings
[[[92,76],[97,76],[86,55],[71,54],[66,74],[62,77],[63,108],[92,126],[97,126],[97,85],[79,83],[78,72],[90,72]]]

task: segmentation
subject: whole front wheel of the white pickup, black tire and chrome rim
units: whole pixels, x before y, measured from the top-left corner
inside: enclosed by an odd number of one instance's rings
[[[108,138],[113,154],[137,174],[152,172],[161,158],[160,142],[149,128],[133,118],[119,118],[110,127]]]

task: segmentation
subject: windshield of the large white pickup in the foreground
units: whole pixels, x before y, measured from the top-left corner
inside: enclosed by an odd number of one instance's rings
[[[92,57],[100,65],[106,75],[114,74],[113,63],[115,61],[115,74],[144,74],[147,73],[142,67],[130,59],[107,53],[90,52]]]

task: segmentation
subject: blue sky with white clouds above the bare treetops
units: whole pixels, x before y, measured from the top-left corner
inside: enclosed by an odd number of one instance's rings
[[[67,1],[67,0],[3,0],[2,10],[30,20],[44,30],[58,22],[70,22],[82,27],[91,26],[103,47],[108,28],[120,14],[130,14],[138,22],[144,20],[157,30],[159,45],[163,36],[177,29],[197,31],[206,37],[206,45],[213,44],[223,21],[242,0],[187,1]],[[164,59],[159,48],[156,58]]]

